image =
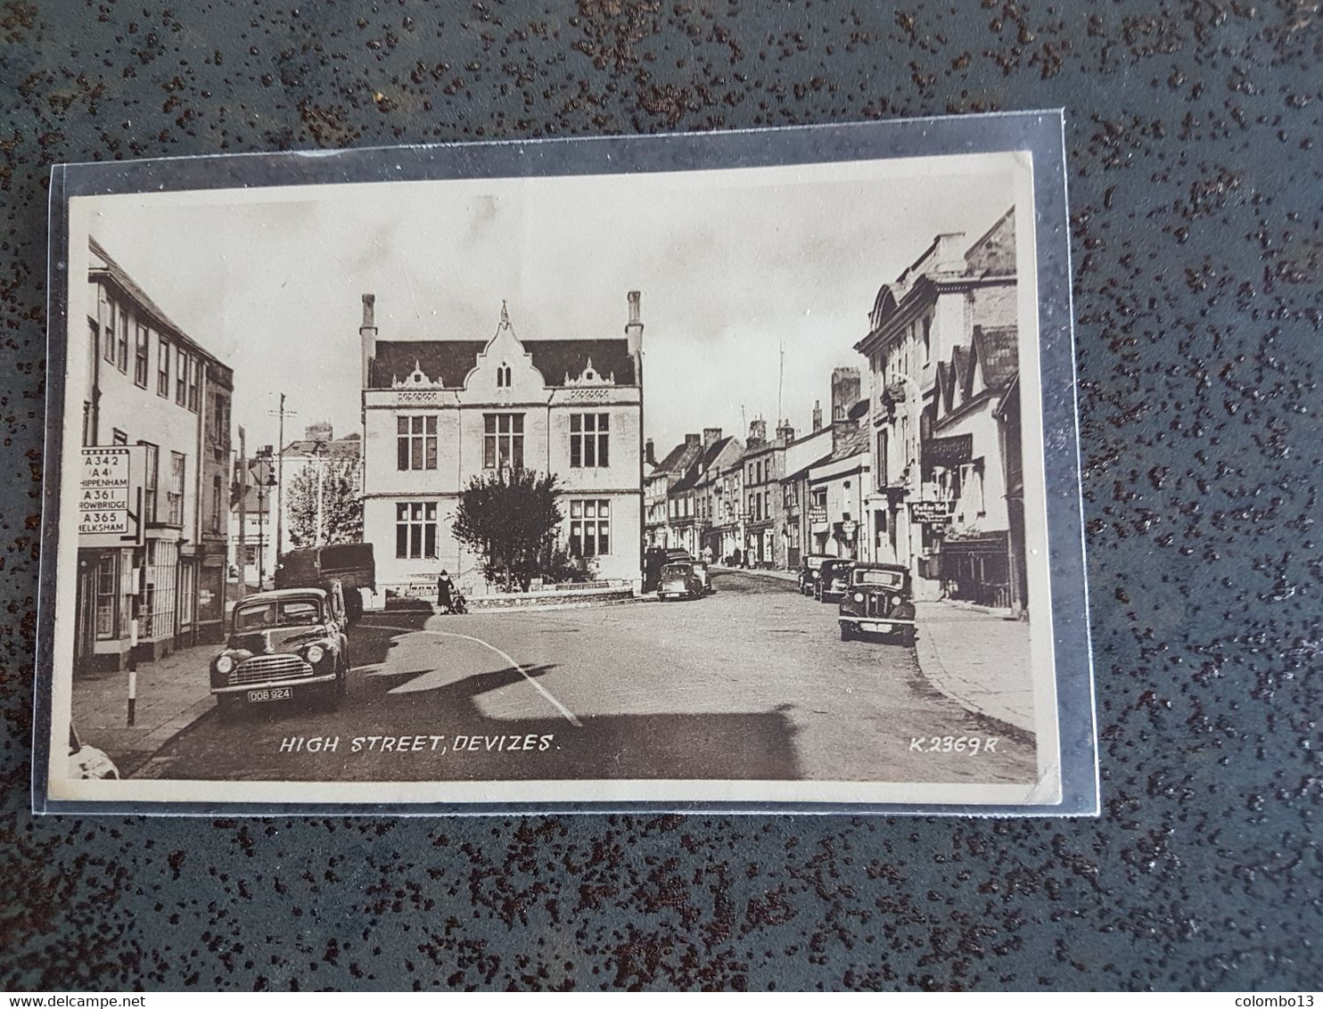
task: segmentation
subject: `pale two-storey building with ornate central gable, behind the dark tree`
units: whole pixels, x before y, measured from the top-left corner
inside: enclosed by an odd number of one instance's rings
[[[364,295],[364,540],[377,583],[433,591],[442,569],[482,590],[480,558],[452,533],[468,481],[503,467],[556,473],[560,542],[603,579],[638,582],[643,547],[639,294],[623,339],[516,335],[501,305],[486,340],[380,340]]]

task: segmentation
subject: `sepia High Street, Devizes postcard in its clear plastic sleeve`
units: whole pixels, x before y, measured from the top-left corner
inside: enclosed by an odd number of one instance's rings
[[[1057,114],[52,181],[37,809],[1095,809]]]

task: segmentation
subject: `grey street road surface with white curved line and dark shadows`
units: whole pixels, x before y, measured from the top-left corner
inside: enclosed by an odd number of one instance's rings
[[[836,607],[792,583],[714,586],[676,603],[373,614],[351,632],[339,711],[212,711],[135,776],[1033,780],[1033,741],[927,688],[913,649],[840,641]],[[935,737],[980,752],[925,752]]]

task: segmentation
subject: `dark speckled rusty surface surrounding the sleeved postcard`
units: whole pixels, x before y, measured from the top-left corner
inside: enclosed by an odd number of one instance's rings
[[[0,987],[1318,987],[1323,15],[869,8],[0,3]],[[1054,106],[1099,820],[29,816],[52,163]]]

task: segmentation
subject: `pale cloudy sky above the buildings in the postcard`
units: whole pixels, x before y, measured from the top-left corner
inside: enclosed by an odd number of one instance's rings
[[[234,369],[247,444],[359,430],[361,296],[381,340],[622,337],[642,292],[646,436],[830,414],[831,370],[938,233],[1015,201],[1015,155],[725,172],[81,197],[87,230]],[[71,230],[71,235],[77,231]],[[78,288],[75,288],[78,290]],[[77,312],[71,313],[77,319]],[[779,403],[779,406],[778,406]]]

